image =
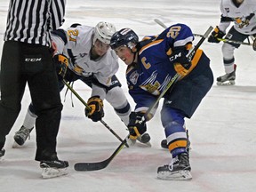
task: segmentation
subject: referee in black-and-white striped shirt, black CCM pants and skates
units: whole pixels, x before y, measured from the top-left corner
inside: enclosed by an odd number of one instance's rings
[[[35,159],[46,178],[67,174],[68,167],[56,152],[62,104],[50,52],[50,32],[63,23],[65,4],[65,0],[11,0],[1,60],[0,158],[28,82],[37,116]]]

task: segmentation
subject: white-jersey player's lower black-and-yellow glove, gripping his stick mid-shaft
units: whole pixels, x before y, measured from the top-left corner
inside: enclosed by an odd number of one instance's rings
[[[85,116],[91,118],[93,122],[100,121],[104,116],[103,101],[99,96],[93,96],[87,101],[88,106],[91,108],[85,108]]]

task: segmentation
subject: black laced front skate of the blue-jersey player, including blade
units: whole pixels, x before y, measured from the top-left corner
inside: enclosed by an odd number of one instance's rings
[[[190,171],[188,153],[184,152],[173,158],[171,164],[158,167],[157,178],[160,180],[191,180]]]

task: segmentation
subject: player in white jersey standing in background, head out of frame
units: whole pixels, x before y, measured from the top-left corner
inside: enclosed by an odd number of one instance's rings
[[[255,0],[221,0],[220,3],[220,24],[217,26],[212,35],[209,36],[208,42],[219,44],[218,38],[226,35],[226,29],[231,22],[234,26],[229,29],[226,39],[244,42],[248,36],[256,35],[256,1]],[[255,43],[255,40],[253,44]],[[226,74],[217,78],[217,84],[235,84],[236,64],[234,51],[240,44],[224,43],[222,45],[222,55]]]

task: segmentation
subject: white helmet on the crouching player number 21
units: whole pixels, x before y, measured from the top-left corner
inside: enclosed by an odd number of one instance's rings
[[[97,39],[104,44],[110,44],[111,36],[116,32],[112,23],[100,21],[94,28],[93,44]]]

